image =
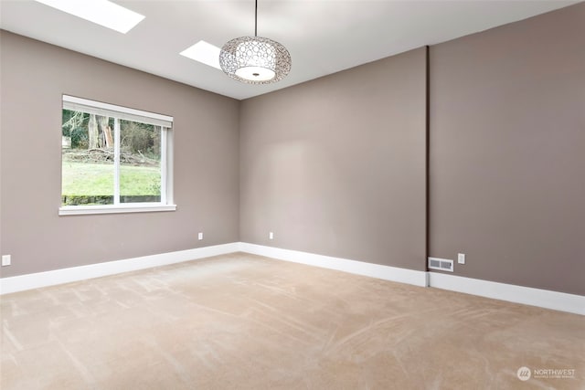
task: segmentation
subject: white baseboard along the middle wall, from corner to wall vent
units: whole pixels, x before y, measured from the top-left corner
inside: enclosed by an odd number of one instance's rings
[[[382,266],[347,258],[332,258],[297,250],[265,247],[245,242],[239,243],[239,250],[254,255],[266,256],[267,258],[277,258],[324,269],[336,269],[371,278],[399,281],[401,283],[413,284],[420,287],[426,287],[428,285],[427,272],[425,271],[400,269],[398,267]]]

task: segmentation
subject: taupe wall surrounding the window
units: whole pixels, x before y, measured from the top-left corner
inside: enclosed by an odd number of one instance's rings
[[[3,277],[239,240],[238,100],[1,34]],[[58,216],[63,93],[175,117],[176,212]]]

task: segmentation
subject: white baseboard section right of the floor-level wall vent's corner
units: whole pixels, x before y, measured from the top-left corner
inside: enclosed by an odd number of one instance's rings
[[[495,300],[507,300],[555,311],[585,315],[585,297],[565,292],[540,290],[495,281],[429,272],[429,286],[442,290],[464,292]]]

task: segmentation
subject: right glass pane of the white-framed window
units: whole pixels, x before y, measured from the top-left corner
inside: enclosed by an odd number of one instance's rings
[[[161,127],[120,121],[120,203],[161,201]]]

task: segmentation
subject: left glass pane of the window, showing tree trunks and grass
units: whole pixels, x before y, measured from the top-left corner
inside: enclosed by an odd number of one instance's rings
[[[61,205],[113,204],[113,119],[62,113]]]

